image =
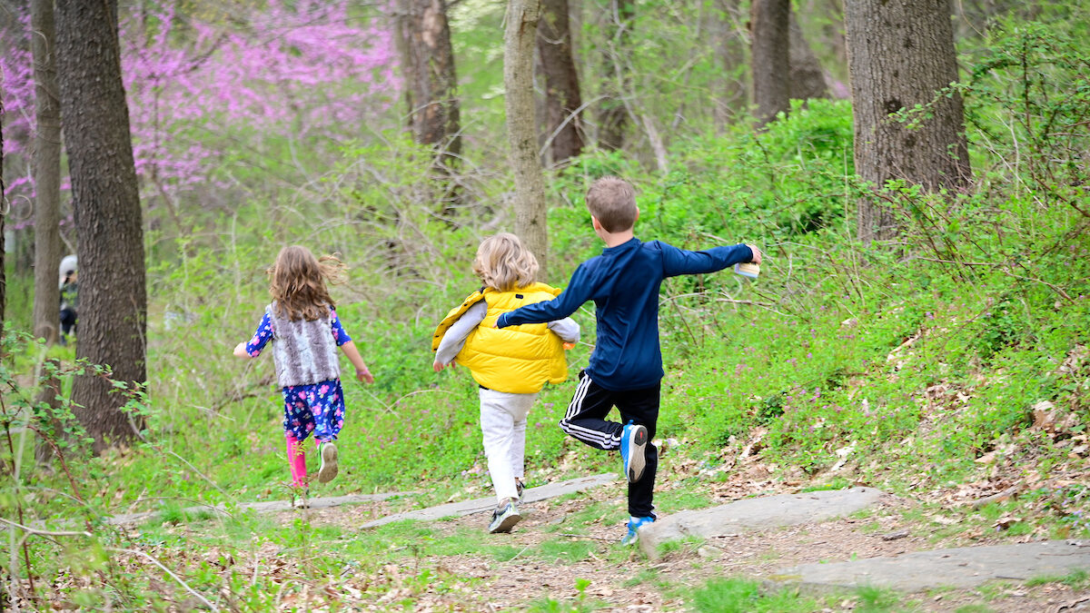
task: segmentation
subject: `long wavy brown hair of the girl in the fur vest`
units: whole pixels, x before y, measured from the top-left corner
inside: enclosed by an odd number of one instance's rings
[[[344,264],[334,255],[314,257],[311,250],[293,244],[280,250],[268,271],[269,293],[277,314],[291,321],[313,322],[329,315],[334,305],[326,281],[344,280]]]

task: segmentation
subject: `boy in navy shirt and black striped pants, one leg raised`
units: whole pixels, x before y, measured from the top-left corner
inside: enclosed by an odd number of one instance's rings
[[[580,264],[560,296],[505,313],[496,326],[562,320],[594,301],[597,344],[560,428],[592,447],[620,449],[631,516],[621,543],[632,544],[640,527],[655,520],[658,449],[651,440],[664,374],[658,288],[666,277],[713,273],[743,262],[760,264],[761,252],[747,244],[686,251],[659,241],[640,242],[632,235],[640,216],[635,193],[616,177],[591,185],[586,208],[594,232],[606,243],[602,255]],[[620,422],[605,419],[613,407],[620,412]]]

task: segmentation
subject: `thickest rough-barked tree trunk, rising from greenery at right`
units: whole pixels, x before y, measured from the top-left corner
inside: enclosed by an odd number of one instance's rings
[[[929,190],[960,189],[971,169],[957,80],[949,0],[847,0],[845,29],[855,115],[856,172],[882,187],[904,179]],[[916,105],[929,107],[918,127],[889,119]],[[887,208],[862,201],[859,238],[895,233]]]

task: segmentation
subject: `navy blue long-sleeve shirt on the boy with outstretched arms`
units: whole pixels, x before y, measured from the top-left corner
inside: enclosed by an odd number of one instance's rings
[[[560,320],[593,300],[597,342],[586,373],[606,389],[653,387],[664,374],[658,348],[658,288],[663,279],[714,273],[752,259],[753,251],[744,244],[686,251],[633,238],[580,264],[568,287],[553,300],[505,313],[496,325]]]

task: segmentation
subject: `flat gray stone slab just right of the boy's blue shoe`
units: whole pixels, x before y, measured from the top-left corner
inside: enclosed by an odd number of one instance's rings
[[[638,542],[647,557],[654,560],[658,556],[658,545],[667,541],[686,537],[729,537],[747,531],[823,521],[862,510],[877,503],[881,496],[882,492],[874,488],[851,488],[744,498],[664,517],[640,529]]]

